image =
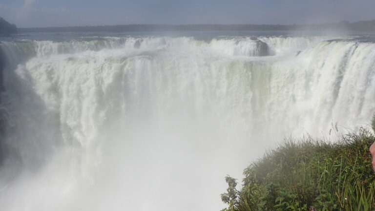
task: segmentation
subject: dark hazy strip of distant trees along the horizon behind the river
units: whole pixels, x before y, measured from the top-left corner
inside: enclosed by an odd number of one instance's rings
[[[104,25],[104,26],[72,26],[72,27],[42,27],[19,28],[18,32],[142,32],[142,31],[292,31],[292,30],[348,30],[375,31],[375,20],[306,25],[259,25],[259,24],[132,24],[132,25]],[[0,34],[17,33],[14,24],[9,24],[0,18]]]

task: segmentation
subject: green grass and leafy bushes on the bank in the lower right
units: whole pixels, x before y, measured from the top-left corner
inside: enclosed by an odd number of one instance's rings
[[[221,194],[227,211],[375,211],[375,174],[362,129],[337,143],[287,140],[234,178]]]

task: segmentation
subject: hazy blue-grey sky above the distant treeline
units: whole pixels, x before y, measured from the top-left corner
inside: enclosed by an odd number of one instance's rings
[[[0,0],[18,27],[303,24],[375,19],[375,0]]]

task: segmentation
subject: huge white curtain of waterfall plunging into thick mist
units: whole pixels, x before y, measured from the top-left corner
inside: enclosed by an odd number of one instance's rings
[[[375,112],[375,43],[324,37],[2,42],[3,211],[218,211],[283,137]]]

